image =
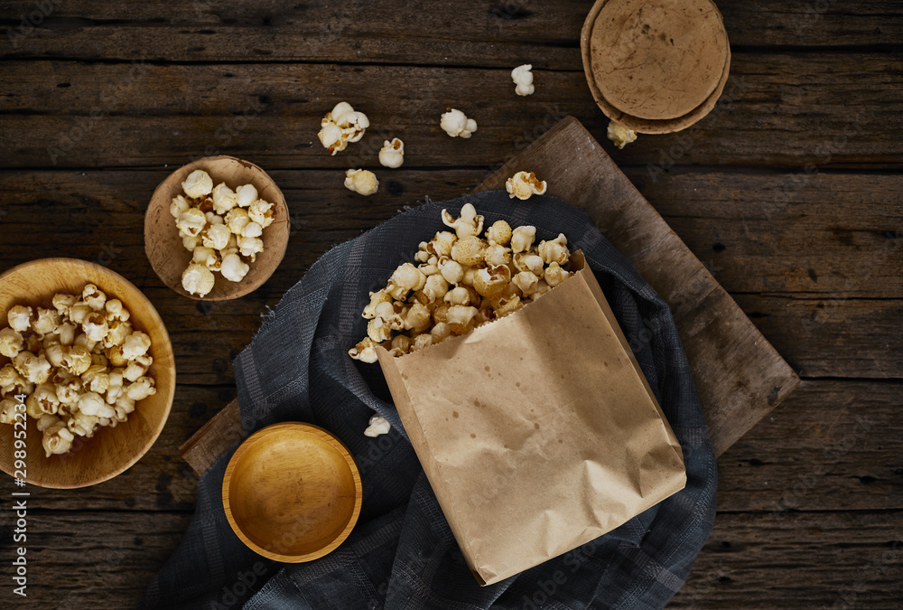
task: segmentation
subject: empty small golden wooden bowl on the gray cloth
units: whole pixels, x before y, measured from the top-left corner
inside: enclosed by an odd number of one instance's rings
[[[336,549],[358,521],[358,465],[321,427],[265,427],[238,446],[223,479],[223,507],[249,549],[285,563]]]

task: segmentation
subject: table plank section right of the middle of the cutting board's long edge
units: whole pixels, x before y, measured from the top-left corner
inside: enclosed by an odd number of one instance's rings
[[[728,292],[903,296],[901,175],[628,178]]]

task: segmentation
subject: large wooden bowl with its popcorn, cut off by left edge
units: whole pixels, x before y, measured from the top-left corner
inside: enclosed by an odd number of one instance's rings
[[[0,276],[0,470],[69,489],[135,464],[169,417],[163,320],[125,277],[75,258]]]

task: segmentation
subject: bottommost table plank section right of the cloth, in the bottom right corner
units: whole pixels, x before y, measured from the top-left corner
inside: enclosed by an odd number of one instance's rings
[[[719,514],[669,608],[870,608],[903,598],[903,511]]]

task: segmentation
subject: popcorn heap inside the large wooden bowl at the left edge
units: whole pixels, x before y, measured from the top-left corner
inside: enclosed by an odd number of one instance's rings
[[[15,397],[25,395],[47,457],[70,451],[76,436],[125,422],[135,400],[157,391],[147,374],[151,338],[133,330],[118,299],[88,284],[80,296],[51,302],[52,310],[14,305],[11,327],[0,329],[0,352],[12,360],[0,368],[0,423],[14,424]]]

